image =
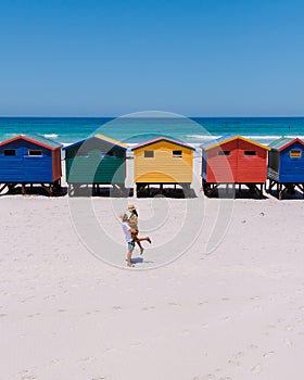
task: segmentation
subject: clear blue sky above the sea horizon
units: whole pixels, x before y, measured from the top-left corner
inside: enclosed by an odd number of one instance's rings
[[[1,0],[0,115],[304,115],[303,0]]]

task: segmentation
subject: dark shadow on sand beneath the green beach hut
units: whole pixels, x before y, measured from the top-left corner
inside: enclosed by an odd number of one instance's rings
[[[117,189],[112,186],[102,186],[99,188],[93,188],[92,185],[80,185],[73,188],[68,188],[68,197],[78,197],[78,198],[128,198],[132,195],[132,190]]]

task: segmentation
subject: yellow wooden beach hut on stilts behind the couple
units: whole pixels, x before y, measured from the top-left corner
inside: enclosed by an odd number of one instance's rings
[[[167,137],[157,137],[132,148],[136,191],[150,185],[179,185],[190,191],[194,148]]]

